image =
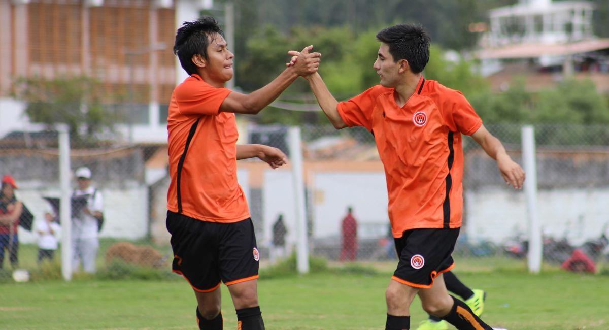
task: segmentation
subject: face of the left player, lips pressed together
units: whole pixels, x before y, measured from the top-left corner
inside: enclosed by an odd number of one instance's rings
[[[205,71],[209,79],[217,82],[228,82],[233,77],[234,54],[228,50],[227,42],[222,35],[215,35],[207,46]]]

